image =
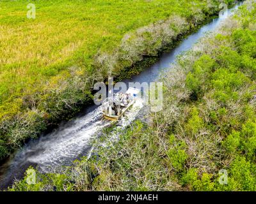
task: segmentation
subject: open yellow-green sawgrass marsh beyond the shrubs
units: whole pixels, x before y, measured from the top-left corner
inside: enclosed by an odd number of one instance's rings
[[[1,1],[0,115],[20,110],[15,99],[69,77],[70,66],[81,68],[78,75],[93,69],[93,56],[111,52],[125,33],[170,15],[192,15],[192,3],[202,8],[205,1],[35,1],[31,20],[28,1]]]

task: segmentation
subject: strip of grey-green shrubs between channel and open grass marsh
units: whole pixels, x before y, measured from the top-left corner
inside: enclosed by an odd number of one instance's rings
[[[186,35],[188,31],[202,24],[207,17],[220,10],[219,5],[214,4],[214,1],[208,1],[211,4],[199,2],[201,1],[189,1],[188,5],[183,5],[183,15],[175,14],[166,18],[161,17],[159,11],[157,11],[157,15],[165,20],[157,21],[150,18],[154,23],[139,29],[135,29],[136,26],[132,27],[131,31],[125,31],[125,36],[118,34],[118,38],[122,36],[122,39],[117,40],[118,43],[115,42],[113,45],[109,45],[111,41],[106,40],[106,43],[102,43],[102,47],[96,48],[88,56],[85,56],[82,47],[82,50],[74,52],[75,57],[72,59],[68,57],[63,63],[53,63],[49,66],[42,66],[41,64],[38,66],[40,68],[38,69],[40,82],[36,77],[38,72],[33,70],[37,65],[34,64],[35,66],[29,67],[28,70],[30,71],[28,71],[23,66],[26,63],[21,66],[22,69],[17,69],[15,68],[17,64],[8,64],[7,61],[6,64],[4,62],[3,68],[8,69],[3,69],[4,72],[1,73],[4,80],[1,82],[1,89],[3,90],[1,91],[0,105],[0,158],[3,159],[10,155],[11,152],[20,148],[24,141],[37,137],[47,127],[59,124],[61,120],[72,118],[83,106],[90,104],[92,101],[90,90],[96,81],[102,81],[108,75],[117,77],[124,70],[127,70],[127,72],[124,72],[125,75],[127,73],[127,77],[138,73],[142,70],[142,68],[139,71],[136,70],[139,67],[138,65],[142,64],[143,68],[148,65],[148,62],[143,61],[145,57],[156,57],[166,45],[175,43],[177,36]],[[186,4],[187,2],[182,1],[183,3]],[[196,4],[197,10],[194,10],[195,5],[193,3]],[[22,4],[22,2],[19,4]],[[61,5],[63,6],[63,4]],[[151,5],[151,3],[147,5]],[[8,11],[5,3],[2,3],[1,6],[4,8],[3,11]],[[42,2],[42,6],[44,6],[44,2]],[[54,6],[58,6],[58,3],[53,5],[52,8]],[[79,6],[82,5],[79,4]],[[42,10],[42,13],[38,11],[41,16],[33,22],[33,26],[43,20],[42,14],[46,11]],[[46,17],[48,18],[47,15]],[[13,25],[15,26],[15,24]],[[134,29],[135,31],[132,31]],[[98,38],[95,37],[95,39]],[[108,47],[110,50],[106,49]],[[82,55],[83,60],[80,59]],[[77,58],[77,56],[79,57]],[[74,62],[74,59],[79,62]],[[29,62],[27,65],[29,64],[31,63]],[[132,66],[135,71],[130,69]],[[10,77],[10,73],[8,73],[9,69],[28,73],[28,75],[25,75],[24,78],[15,75],[15,79],[12,79],[13,77]],[[125,75],[120,75],[120,78],[125,78]],[[33,76],[33,79],[30,78],[31,76]],[[8,80],[11,79],[12,81],[16,80],[17,83],[10,83]],[[20,80],[21,84],[19,84]],[[28,82],[28,84],[25,82]],[[22,85],[22,88],[20,88],[20,85]]]

